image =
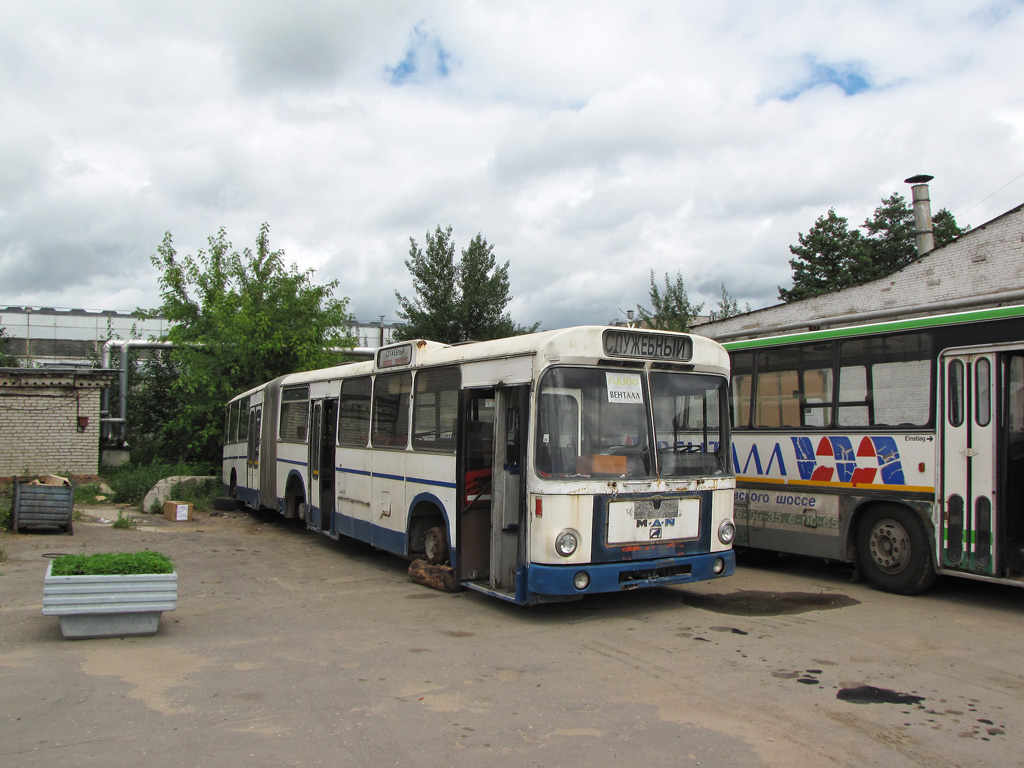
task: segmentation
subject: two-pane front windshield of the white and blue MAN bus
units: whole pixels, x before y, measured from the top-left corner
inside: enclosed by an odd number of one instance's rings
[[[627,479],[722,474],[725,402],[720,377],[654,372],[648,383],[642,371],[551,369],[539,389],[537,470]]]

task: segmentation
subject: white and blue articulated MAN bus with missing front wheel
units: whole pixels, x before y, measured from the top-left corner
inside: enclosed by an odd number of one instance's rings
[[[717,579],[728,374],[710,339],[627,328],[391,344],[232,399],[223,481],[521,604]]]

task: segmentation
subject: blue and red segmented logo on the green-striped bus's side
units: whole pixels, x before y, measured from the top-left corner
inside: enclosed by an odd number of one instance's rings
[[[810,437],[793,437],[797,470],[802,480],[839,481],[853,485],[903,485],[903,465],[892,437],[824,436],[814,445]]]

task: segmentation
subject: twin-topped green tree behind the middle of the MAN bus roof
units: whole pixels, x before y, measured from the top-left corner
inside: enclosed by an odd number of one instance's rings
[[[498,264],[494,246],[477,233],[455,259],[452,227],[440,226],[426,233],[424,248],[409,239],[406,266],[413,278],[415,295],[407,298],[395,291],[398,316],[404,326],[396,339],[430,339],[445,344],[485,341],[536,331],[525,328],[506,311],[509,293],[509,262]]]

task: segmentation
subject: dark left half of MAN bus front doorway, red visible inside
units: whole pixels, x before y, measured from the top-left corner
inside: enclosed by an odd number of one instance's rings
[[[495,390],[463,390],[457,461],[459,581],[490,575],[490,502],[494,494]]]

